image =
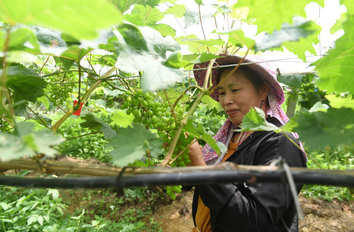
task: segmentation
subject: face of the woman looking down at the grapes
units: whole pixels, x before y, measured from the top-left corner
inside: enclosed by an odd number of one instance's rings
[[[220,82],[231,72],[226,69]],[[219,102],[230,120],[238,125],[251,107],[260,107],[268,94],[266,87],[256,89],[243,71],[236,70],[218,87]],[[266,105],[266,104],[264,104]],[[263,107],[264,108],[264,107]]]

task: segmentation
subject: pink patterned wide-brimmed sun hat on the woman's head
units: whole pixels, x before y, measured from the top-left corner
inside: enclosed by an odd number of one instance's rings
[[[227,53],[222,53],[220,54],[220,56],[222,56],[222,58],[217,58],[213,64],[213,67],[224,66],[229,64],[238,64],[238,62],[243,58],[243,57],[239,57]],[[209,61],[204,63],[194,64],[193,69],[197,69],[193,71],[194,77],[200,86],[203,86],[204,84],[205,75],[207,72],[206,68],[208,65],[209,65]],[[246,58],[243,60],[243,64],[241,65],[247,65],[248,68],[254,70],[256,73],[258,73],[261,76],[261,78],[264,81],[269,83],[270,91],[268,97],[270,97],[270,95],[273,95],[275,97],[277,107],[279,107],[284,102],[285,96],[284,96],[283,88],[280,86],[279,82],[277,81],[275,72],[271,70],[270,65],[263,58],[256,55],[247,55]],[[204,69],[199,69],[199,68],[204,68]],[[212,69],[211,83],[213,86],[217,85],[217,81],[222,71],[223,69],[220,68]],[[208,83],[208,87],[209,87],[209,83]],[[215,89],[210,94],[210,97],[217,102],[219,101],[219,93],[217,89]]]

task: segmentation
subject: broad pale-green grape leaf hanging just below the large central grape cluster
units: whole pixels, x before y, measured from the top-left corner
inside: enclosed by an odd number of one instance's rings
[[[133,123],[132,127],[121,128],[119,134],[107,144],[107,147],[113,148],[109,153],[112,162],[122,167],[142,159],[147,150],[150,156],[156,157],[162,153],[162,144],[163,140],[156,134],[145,129],[143,125]]]

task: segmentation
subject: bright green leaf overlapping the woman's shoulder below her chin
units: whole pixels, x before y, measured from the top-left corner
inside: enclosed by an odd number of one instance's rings
[[[255,107],[243,117],[238,131],[276,131],[279,128],[266,120],[263,110]]]

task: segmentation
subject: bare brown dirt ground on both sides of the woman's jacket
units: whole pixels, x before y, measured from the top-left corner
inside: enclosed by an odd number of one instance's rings
[[[193,191],[182,192],[176,201],[155,207],[164,232],[190,232],[193,228]],[[309,200],[300,195],[304,221],[299,232],[354,232],[354,201]]]

